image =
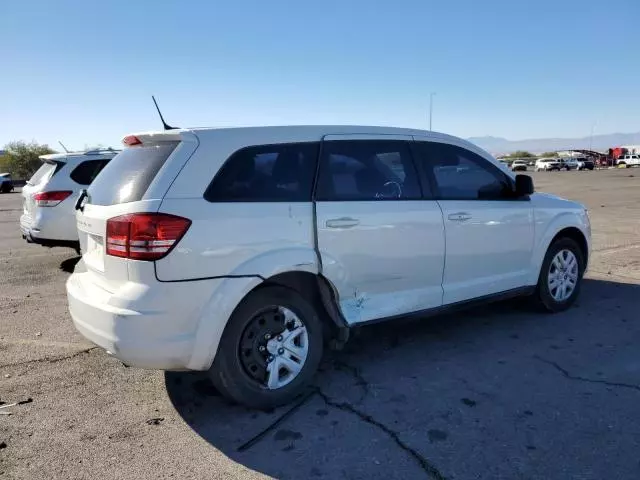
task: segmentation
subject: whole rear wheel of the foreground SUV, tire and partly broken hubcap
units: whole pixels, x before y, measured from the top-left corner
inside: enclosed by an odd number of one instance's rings
[[[265,287],[234,311],[209,375],[226,397],[271,408],[291,401],[310,383],[322,348],[315,309],[293,290]]]

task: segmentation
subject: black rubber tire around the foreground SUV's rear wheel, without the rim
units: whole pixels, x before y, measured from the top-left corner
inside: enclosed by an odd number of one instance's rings
[[[252,319],[270,307],[285,307],[307,328],[308,353],[298,375],[287,385],[269,390],[251,378],[240,360],[240,343]],[[285,287],[263,287],[247,295],[235,309],[220,340],[209,370],[213,384],[228,399],[256,409],[286,404],[304,392],[313,379],[323,350],[323,325],[313,306],[296,291]]]

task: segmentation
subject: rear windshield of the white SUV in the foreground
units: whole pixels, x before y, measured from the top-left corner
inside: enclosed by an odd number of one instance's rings
[[[89,203],[115,205],[142,200],[178,143],[125,148],[113,157],[87,190]]]

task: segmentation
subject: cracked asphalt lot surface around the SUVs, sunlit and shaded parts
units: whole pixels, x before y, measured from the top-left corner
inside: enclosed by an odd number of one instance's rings
[[[379,324],[269,412],[205,375],[126,368],[78,334],[72,250],[26,244],[0,194],[0,479],[638,479],[640,169],[532,174],[584,202],[581,296]]]

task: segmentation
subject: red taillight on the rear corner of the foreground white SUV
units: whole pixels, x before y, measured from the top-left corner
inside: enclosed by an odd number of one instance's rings
[[[107,220],[107,255],[159,260],[180,241],[191,220],[166,213],[130,213]]]

